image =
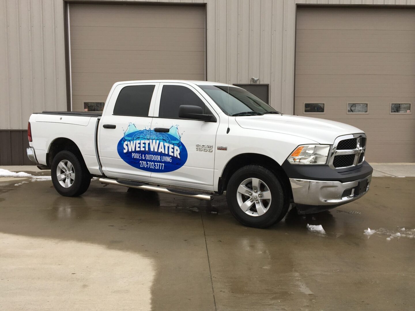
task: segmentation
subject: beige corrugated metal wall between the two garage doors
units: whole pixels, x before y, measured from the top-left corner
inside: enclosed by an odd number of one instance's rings
[[[293,97],[293,83],[287,87],[283,62],[287,42],[283,29],[288,26],[284,16],[289,10],[294,16],[295,5],[283,1],[208,1],[207,80],[233,84],[259,78],[259,83],[270,85],[271,106],[292,112],[292,99],[287,98]]]

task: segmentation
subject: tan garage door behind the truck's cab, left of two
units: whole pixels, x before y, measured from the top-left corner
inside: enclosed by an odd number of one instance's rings
[[[113,83],[205,80],[205,7],[69,5],[72,109],[98,110]]]

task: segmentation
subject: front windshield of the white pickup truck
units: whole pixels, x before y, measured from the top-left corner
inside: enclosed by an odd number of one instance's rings
[[[207,95],[229,116],[278,113],[269,104],[240,87],[222,85],[199,85]]]

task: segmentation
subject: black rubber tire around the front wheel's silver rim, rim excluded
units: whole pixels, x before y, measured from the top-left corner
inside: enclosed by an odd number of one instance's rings
[[[271,192],[271,201],[264,200],[264,206],[267,204],[266,211],[264,214],[259,216],[250,216],[250,214],[256,214],[255,203],[251,210],[245,212],[242,211],[241,207],[239,207],[237,199],[239,185],[241,185],[244,180],[250,178],[257,178],[261,180],[266,184],[268,190]],[[253,192],[254,190],[252,190],[252,193]],[[247,202],[244,200],[246,197],[242,196],[241,198],[244,203]],[[260,165],[248,165],[237,170],[229,179],[227,184],[226,199],[229,205],[229,209],[237,221],[239,221],[244,226],[254,228],[266,228],[277,223],[278,221],[281,221],[281,219],[283,219],[287,214],[289,207],[288,197],[281,180],[279,180],[278,176],[271,172],[271,170]]]

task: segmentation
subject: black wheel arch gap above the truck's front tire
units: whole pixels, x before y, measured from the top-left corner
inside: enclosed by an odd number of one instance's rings
[[[285,191],[290,195],[290,199],[292,199],[293,194],[291,191],[290,180],[281,165],[273,158],[259,153],[241,153],[230,159],[225,165],[222,175],[219,177],[217,192],[223,194],[232,174],[236,170],[239,170],[239,168],[247,165],[260,165],[271,170],[280,179]]]

